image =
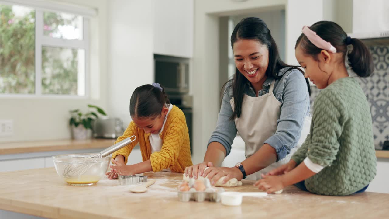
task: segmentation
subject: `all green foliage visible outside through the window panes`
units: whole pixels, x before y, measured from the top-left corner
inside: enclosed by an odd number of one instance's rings
[[[58,33],[63,19],[44,12],[44,35]],[[77,49],[42,47],[42,94],[77,95]],[[16,17],[11,5],[0,5],[0,94],[35,93],[35,11]]]

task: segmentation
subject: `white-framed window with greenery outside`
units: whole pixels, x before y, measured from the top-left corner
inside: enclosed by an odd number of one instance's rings
[[[0,1],[0,95],[85,96],[88,23],[68,10]]]

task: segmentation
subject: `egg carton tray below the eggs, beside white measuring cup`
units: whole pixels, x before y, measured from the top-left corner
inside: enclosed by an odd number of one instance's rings
[[[205,200],[219,202],[221,193],[224,192],[222,188],[214,188],[214,191],[177,191],[178,199],[180,201],[197,201],[202,202]]]

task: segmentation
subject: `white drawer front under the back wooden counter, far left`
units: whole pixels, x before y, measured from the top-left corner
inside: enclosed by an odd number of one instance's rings
[[[0,172],[44,168],[43,157],[0,161]]]

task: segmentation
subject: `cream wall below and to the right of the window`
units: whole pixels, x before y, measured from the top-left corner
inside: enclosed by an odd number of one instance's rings
[[[86,109],[89,103],[107,108],[107,0],[57,2],[82,5],[98,11],[97,17],[90,22],[90,95],[84,99],[0,97],[0,119],[13,120],[14,132],[12,136],[1,136],[0,141],[70,138],[70,109]]]

